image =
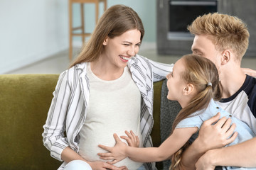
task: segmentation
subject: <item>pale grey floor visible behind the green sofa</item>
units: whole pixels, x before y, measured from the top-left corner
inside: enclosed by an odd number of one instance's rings
[[[77,56],[79,53],[79,49],[74,50],[73,57]],[[171,55],[158,55],[156,50],[141,50],[139,55],[149,58],[150,60],[154,60],[156,62],[163,63],[175,63],[180,56],[171,56]],[[26,67],[13,70],[6,74],[60,74],[65,69],[68,69],[68,65],[70,64],[68,59],[68,50],[63,52],[59,52],[56,55],[50,56],[45,60],[41,60],[39,62],[33,63]],[[256,57],[248,58],[244,57],[242,59],[241,67],[255,69],[256,70]]]

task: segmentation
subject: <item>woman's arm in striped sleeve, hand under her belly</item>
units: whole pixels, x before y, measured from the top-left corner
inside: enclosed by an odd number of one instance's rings
[[[71,149],[68,145],[65,131],[65,117],[70,101],[71,87],[68,81],[68,71],[60,74],[55,91],[53,92],[53,100],[50,104],[46,124],[43,125],[43,144],[50,150],[50,155],[59,161],[66,163],[73,160],[83,159],[78,153]],[[87,162],[92,169],[125,169],[125,166],[118,168],[106,162]]]

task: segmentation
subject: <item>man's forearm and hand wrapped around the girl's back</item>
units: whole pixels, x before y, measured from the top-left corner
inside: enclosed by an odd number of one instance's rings
[[[219,120],[219,118],[220,113],[203,123],[198,138],[183,152],[181,159],[183,169],[196,169],[196,162],[208,150],[224,147],[235,140],[238,135],[237,132],[232,135],[235,124],[230,126],[230,119],[223,117]],[[216,121],[218,122],[215,123]],[[232,137],[230,137],[231,135]]]

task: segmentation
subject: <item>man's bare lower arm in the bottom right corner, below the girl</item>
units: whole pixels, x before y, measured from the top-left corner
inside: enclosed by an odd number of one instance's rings
[[[238,145],[209,150],[198,159],[196,168],[206,170],[215,166],[256,167],[255,158],[256,137]]]

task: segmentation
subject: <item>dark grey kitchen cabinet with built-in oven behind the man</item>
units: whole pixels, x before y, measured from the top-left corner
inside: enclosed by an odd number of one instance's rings
[[[256,57],[256,1],[255,0],[157,0],[157,51],[160,55],[191,53],[193,36],[188,26],[203,13],[227,13],[247,23],[250,44],[245,54]]]

